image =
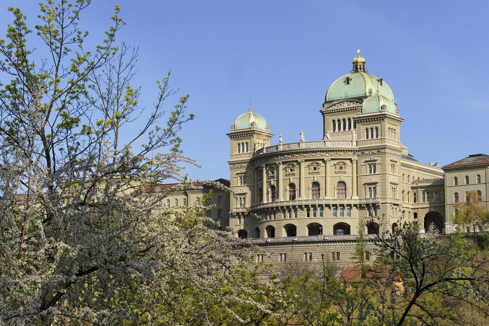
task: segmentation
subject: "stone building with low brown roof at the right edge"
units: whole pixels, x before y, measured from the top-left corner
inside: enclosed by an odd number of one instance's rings
[[[453,232],[455,208],[454,204],[467,201],[467,192],[477,191],[479,200],[489,211],[489,155],[474,154],[456,162],[445,165],[445,200],[446,207],[446,229]],[[469,227],[469,230],[472,228]]]

